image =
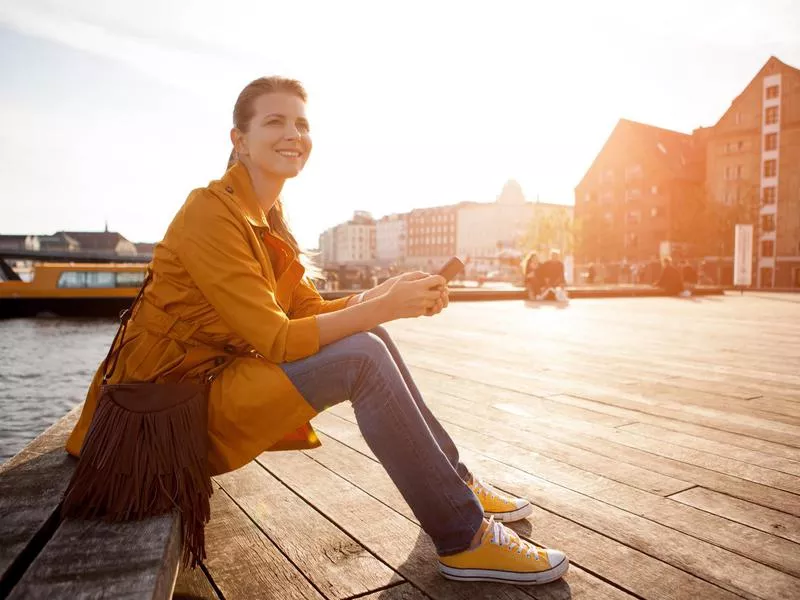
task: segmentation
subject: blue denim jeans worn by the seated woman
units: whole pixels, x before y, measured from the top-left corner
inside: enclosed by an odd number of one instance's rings
[[[470,472],[383,327],[281,367],[317,412],[350,399],[364,440],[440,555],[469,547],[483,520]]]

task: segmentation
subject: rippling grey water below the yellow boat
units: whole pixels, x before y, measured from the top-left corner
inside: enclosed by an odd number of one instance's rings
[[[0,463],[80,404],[114,320],[0,321]]]

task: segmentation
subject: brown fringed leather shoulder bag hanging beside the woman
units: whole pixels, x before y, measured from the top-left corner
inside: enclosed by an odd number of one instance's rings
[[[61,513],[118,522],[176,509],[181,515],[183,563],[194,568],[206,557],[205,525],[211,516],[208,393],[211,382],[235,357],[214,359],[201,381],[109,384],[131,312],[150,280],[148,275],[131,308],[121,315]]]

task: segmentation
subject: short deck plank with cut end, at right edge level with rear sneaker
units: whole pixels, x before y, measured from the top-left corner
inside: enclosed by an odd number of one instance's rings
[[[680,492],[670,498],[800,544],[800,518],[792,515],[701,487]]]

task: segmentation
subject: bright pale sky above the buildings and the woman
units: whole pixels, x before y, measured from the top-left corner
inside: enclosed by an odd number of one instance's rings
[[[161,239],[219,178],[236,97],[300,79],[314,150],[283,199],[301,245],[354,210],[571,204],[614,125],[713,125],[794,0],[0,0],[0,233]]]

